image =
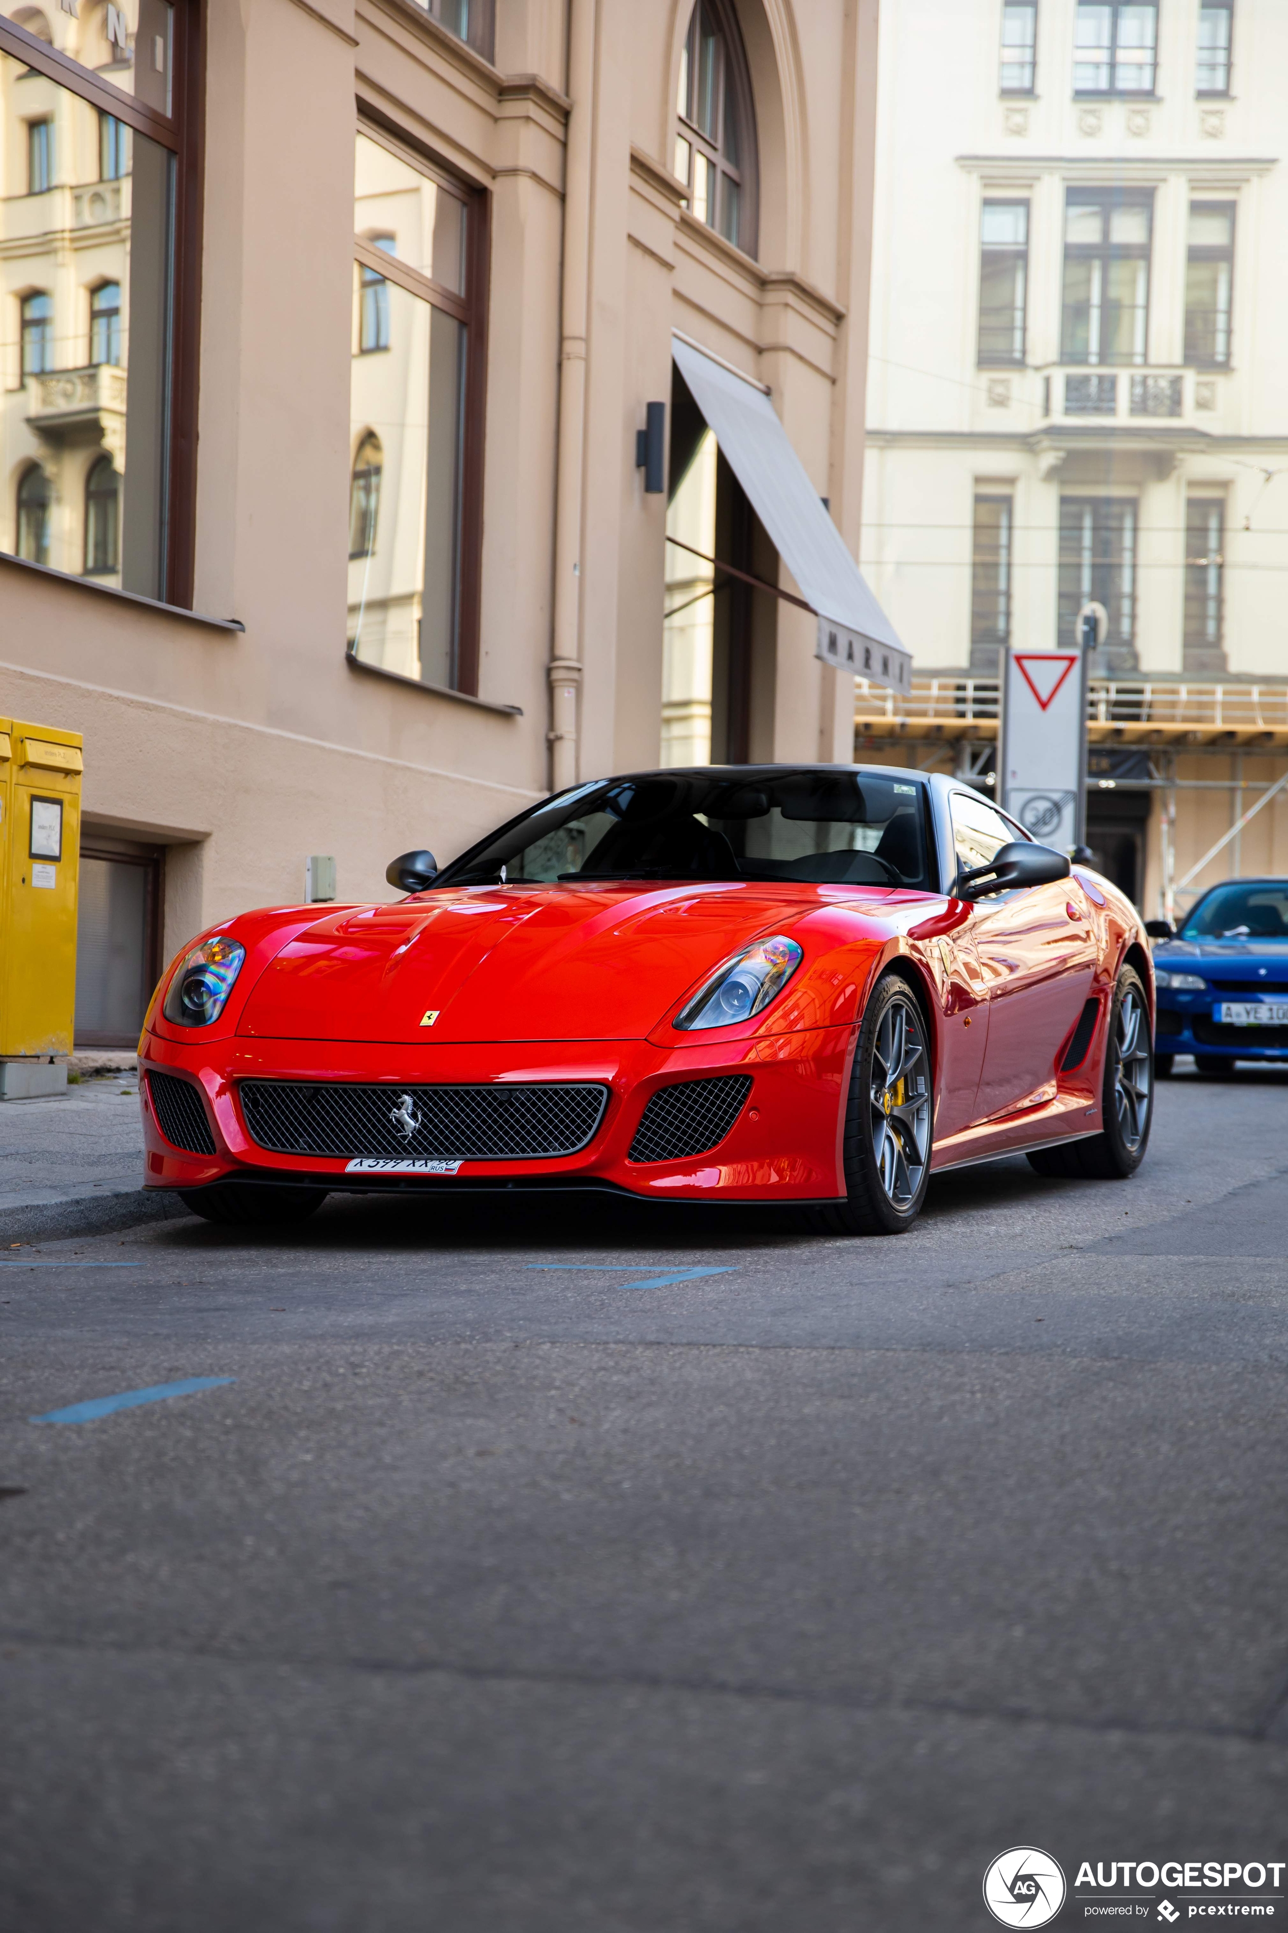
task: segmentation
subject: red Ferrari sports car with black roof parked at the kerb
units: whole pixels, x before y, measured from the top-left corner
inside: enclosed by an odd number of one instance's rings
[[[388,878],[406,899],[243,912],[168,968],[149,1187],[216,1222],[595,1187],[898,1233],[944,1168],[1145,1154],[1135,909],[964,783],[626,773]]]

